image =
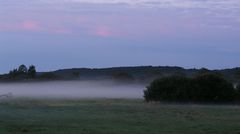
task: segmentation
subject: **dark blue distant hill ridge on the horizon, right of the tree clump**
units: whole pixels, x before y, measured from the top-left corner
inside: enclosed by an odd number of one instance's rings
[[[165,77],[169,75],[182,75],[186,77],[194,77],[202,70],[208,70],[206,68],[201,69],[185,69],[178,66],[130,66],[130,67],[109,67],[109,68],[72,68],[72,69],[60,69],[53,71],[55,75],[62,77],[63,79],[70,79],[74,74],[79,74],[79,79],[111,79],[115,75],[127,75],[133,77],[138,81],[150,81],[158,77]],[[215,69],[208,70],[211,72],[219,73],[226,79],[232,82],[239,82],[240,68],[231,69]],[[121,77],[121,76],[119,76]]]

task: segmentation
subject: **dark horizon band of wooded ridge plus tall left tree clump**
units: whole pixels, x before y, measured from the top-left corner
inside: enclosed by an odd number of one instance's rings
[[[138,66],[138,67],[114,67],[114,68],[74,68],[52,72],[37,72],[35,66],[27,68],[20,65],[8,74],[0,75],[0,81],[21,80],[116,80],[123,82],[140,82],[148,84],[154,79],[169,76],[195,78],[200,74],[212,72],[221,75],[226,80],[237,84],[240,83],[240,68],[208,70],[184,69],[169,66]]]

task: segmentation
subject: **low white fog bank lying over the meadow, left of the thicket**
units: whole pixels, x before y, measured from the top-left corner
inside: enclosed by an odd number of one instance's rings
[[[109,81],[0,83],[0,95],[37,98],[143,98],[144,85]]]

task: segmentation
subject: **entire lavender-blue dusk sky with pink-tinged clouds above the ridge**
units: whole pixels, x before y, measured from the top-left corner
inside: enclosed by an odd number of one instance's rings
[[[239,59],[240,0],[0,0],[0,73]]]

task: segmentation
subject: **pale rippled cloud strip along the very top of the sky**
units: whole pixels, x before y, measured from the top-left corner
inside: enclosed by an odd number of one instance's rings
[[[239,0],[42,0],[46,3],[126,4],[161,8],[239,9]]]

